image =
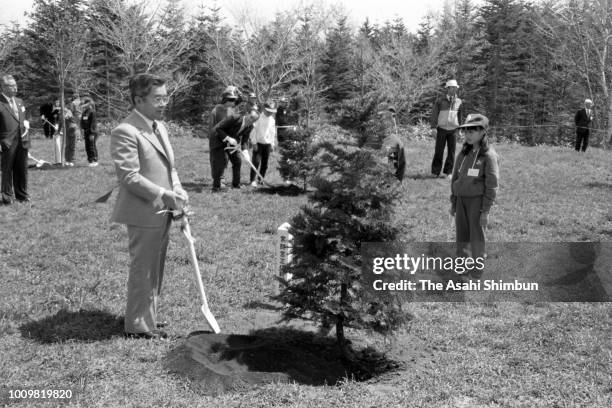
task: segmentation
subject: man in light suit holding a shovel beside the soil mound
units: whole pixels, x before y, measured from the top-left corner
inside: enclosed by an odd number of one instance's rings
[[[111,132],[111,157],[119,180],[112,220],[126,224],[129,238],[125,334],[165,338],[157,320],[171,216],[188,200],[179,180],[174,153],[160,121],[168,95],[165,81],[150,74],[130,79],[134,110]]]

